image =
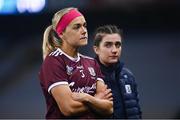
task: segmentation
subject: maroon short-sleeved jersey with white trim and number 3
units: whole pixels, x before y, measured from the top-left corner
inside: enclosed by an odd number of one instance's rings
[[[51,52],[44,60],[40,73],[40,84],[46,98],[46,118],[66,118],[51,95],[51,89],[57,85],[69,85],[72,92],[83,92],[94,95],[97,80],[102,80],[98,63],[90,57],[78,53],[73,58],[61,49]],[[103,80],[102,80],[103,81]],[[92,118],[92,114],[84,114],[77,118]]]

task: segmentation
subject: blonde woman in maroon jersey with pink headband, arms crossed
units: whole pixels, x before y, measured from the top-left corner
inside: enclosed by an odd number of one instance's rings
[[[81,55],[87,44],[86,20],[76,8],[58,11],[43,38],[40,84],[47,119],[98,118],[113,112],[111,89],[93,58]]]

